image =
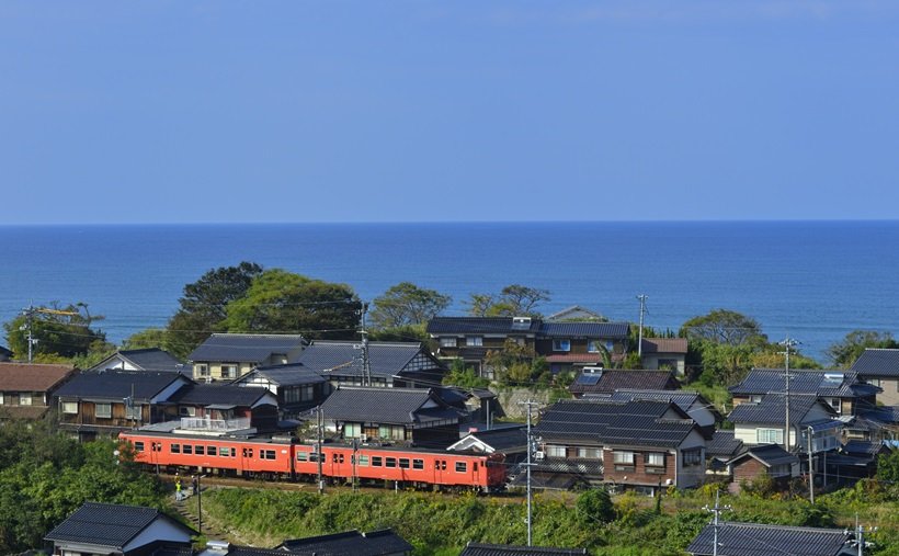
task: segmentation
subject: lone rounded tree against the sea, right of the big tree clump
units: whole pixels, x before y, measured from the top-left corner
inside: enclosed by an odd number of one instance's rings
[[[400,282],[375,297],[372,326],[379,329],[398,328],[428,322],[442,313],[453,298],[434,290]]]

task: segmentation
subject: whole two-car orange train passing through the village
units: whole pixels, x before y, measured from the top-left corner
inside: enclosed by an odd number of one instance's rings
[[[129,431],[120,434],[134,449],[135,461],[158,469],[224,476],[317,480],[315,444],[287,439],[238,439],[171,432]],[[503,456],[445,450],[325,443],[323,480],[446,488],[493,492],[507,480]]]

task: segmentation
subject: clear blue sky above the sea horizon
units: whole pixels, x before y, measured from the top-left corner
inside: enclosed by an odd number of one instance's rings
[[[0,1],[0,224],[899,214],[899,2]]]

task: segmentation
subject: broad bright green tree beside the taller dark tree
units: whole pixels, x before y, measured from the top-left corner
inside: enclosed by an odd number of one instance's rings
[[[310,339],[356,337],[361,304],[353,290],[281,269],[253,280],[247,295],[228,304],[229,332],[303,333]]]

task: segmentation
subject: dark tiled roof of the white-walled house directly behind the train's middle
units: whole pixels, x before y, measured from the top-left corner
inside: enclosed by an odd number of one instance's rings
[[[426,404],[433,407],[424,408]],[[328,420],[409,425],[459,418],[458,411],[423,388],[340,387],[321,404],[321,411]]]

